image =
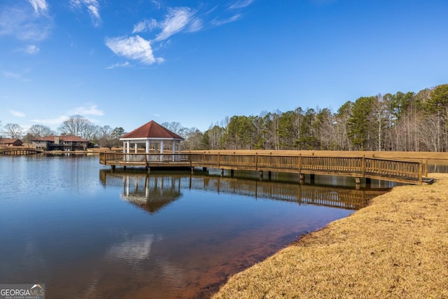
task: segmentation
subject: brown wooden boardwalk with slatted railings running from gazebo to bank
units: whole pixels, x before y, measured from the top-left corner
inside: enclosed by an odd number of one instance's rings
[[[380,179],[399,183],[421,185],[428,181],[427,167],[422,161],[392,160],[384,158],[327,157],[305,155],[240,155],[219,153],[147,154],[147,153],[100,153],[102,165],[141,166],[151,168],[195,167],[262,172],[286,172],[351,176],[359,179]]]

